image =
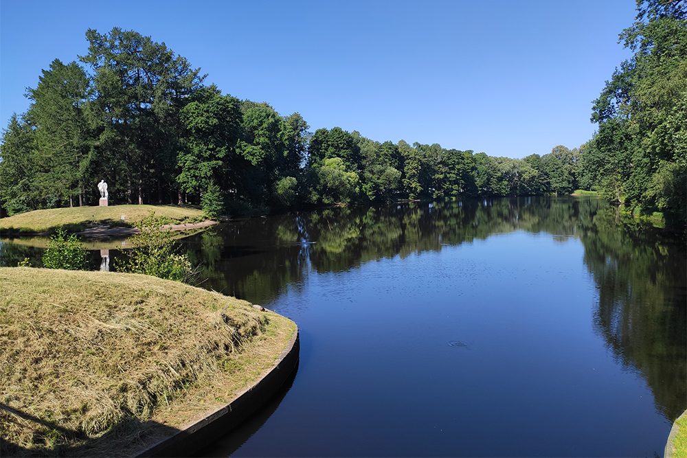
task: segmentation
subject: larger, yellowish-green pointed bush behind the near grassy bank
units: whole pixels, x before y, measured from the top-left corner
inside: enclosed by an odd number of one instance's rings
[[[172,229],[163,229],[164,225],[171,223],[168,218],[155,218],[155,212],[151,210],[136,225],[141,232],[133,236],[133,249],[128,253],[128,260],[115,262],[115,268],[188,283],[193,273],[188,255],[176,252]]]

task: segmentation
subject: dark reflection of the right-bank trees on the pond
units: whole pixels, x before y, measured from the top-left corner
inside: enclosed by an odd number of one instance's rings
[[[594,327],[619,363],[642,374],[672,421],[687,407],[684,238],[617,218],[605,207],[581,225],[599,297]]]

